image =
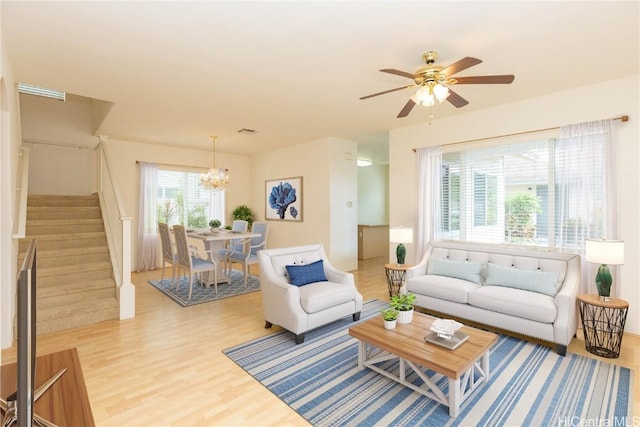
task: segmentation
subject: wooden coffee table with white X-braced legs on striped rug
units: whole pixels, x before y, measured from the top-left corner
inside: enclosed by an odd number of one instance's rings
[[[435,318],[414,313],[409,324],[398,324],[396,329],[384,328],[382,316],[349,328],[349,335],[358,342],[358,368],[368,367],[381,375],[422,393],[449,407],[449,416],[457,417],[460,404],[489,379],[489,349],[498,336],[469,326],[460,331],[469,339],[455,350],[425,342],[429,327]],[[398,375],[382,369],[378,364],[398,359]],[[422,386],[406,380],[407,366],[423,381]],[[438,388],[436,381],[427,376],[427,369],[449,378],[448,395]]]

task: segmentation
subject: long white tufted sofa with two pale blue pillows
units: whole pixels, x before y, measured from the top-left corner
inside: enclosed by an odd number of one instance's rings
[[[561,355],[578,327],[579,255],[431,242],[405,279],[417,307],[547,341]]]

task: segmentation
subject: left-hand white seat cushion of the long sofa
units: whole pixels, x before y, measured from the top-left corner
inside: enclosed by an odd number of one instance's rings
[[[468,304],[467,295],[469,291],[479,287],[480,285],[468,280],[435,274],[417,276],[407,280],[407,290],[409,292],[461,304]]]

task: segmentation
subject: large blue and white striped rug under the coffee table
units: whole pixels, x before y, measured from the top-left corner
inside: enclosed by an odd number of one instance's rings
[[[361,321],[387,304],[367,301]],[[589,357],[558,356],[547,346],[500,335],[491,377],[449,410],[369,369],[358,370],[351,316],[307,332],[295,345],[280,331],[224,350],[249,375],[314,426],[630,425],[632,371]],[[397,362],[386,369],[398,370]],[[428,374],[433,374],[427,371]],[[415,384],[421,380],[407,374]],[[446,388],[447,378],[437,379]]]

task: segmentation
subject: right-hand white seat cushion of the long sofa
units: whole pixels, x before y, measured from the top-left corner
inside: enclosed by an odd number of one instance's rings
[[[543,323],[553,323],[557,315],[553,297],[503,286],[479,286],[469,292],[469,304]]]

